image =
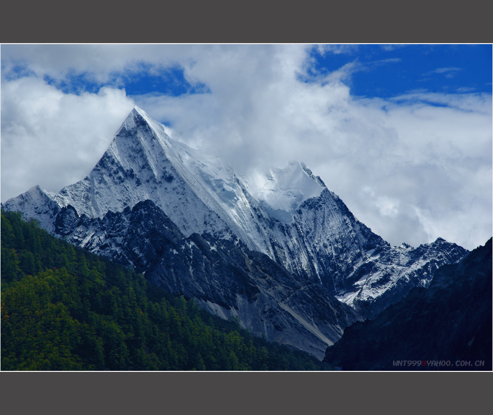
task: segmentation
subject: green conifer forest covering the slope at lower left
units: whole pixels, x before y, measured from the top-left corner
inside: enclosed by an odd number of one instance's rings
[[[328,370],[306,352],[1,216],[2,370]]]

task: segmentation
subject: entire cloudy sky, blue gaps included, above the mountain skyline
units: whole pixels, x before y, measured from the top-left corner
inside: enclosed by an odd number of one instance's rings
[[[491,236],[491,45],[2,45],[1,199],[58,192],[134,105],[238,170],[305,162],[392,245]]]

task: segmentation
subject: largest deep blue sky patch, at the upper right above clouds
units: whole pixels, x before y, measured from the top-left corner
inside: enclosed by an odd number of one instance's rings
[[[351,94],[390,98],[413,90],[491,93],[491,45],[365,45],[321,55],[315,71],[335,71],[355,62]]]

